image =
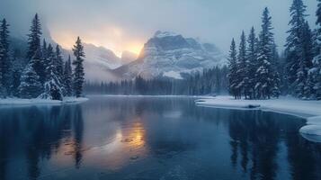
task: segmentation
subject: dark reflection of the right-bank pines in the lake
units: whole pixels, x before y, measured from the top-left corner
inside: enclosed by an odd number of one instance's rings
[[[272,112],[231,111],[229,114],[232,166],[239,164],[244,173],[250,168],[251,179],[275,179],[281,166],[277,162],[279,145],[285,140],[293,179],[320,178],[321,147],[300,137],[302,121]]]

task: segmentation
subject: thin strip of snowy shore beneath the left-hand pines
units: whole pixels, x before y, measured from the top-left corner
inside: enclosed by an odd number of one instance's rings
[[[6,98],[6,99],[0,99],[0,105],[64,104],[64,103],[83,103],[85,101],[88,101],[88,98],[65,97],[63,101],[49,100],[49,99]]]

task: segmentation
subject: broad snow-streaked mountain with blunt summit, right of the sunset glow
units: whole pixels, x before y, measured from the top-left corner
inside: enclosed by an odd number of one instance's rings
[[[184,38],[169,31],[156,31],[136,61],[115,69],[123,78],[167,76],[180,79],[186,74],[226,63],[225,56],[210,43]]]

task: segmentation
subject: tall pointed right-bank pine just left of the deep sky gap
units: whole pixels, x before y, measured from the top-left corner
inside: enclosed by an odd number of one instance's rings
[[[260,32],[260,44],[257,57],[258,68],[255,72],[255,91],[257,98],[271,98],[275,86],[275,79],[272,70],[272,45],[274,44],[272,33],[272,17],[266,7],[262,17],[262,31]]]

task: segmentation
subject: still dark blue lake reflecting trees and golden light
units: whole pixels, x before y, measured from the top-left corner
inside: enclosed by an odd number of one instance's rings
[[[321,179],[304,120],[197,107],[192,98],[92,96],[0,107],[0,179]]]

